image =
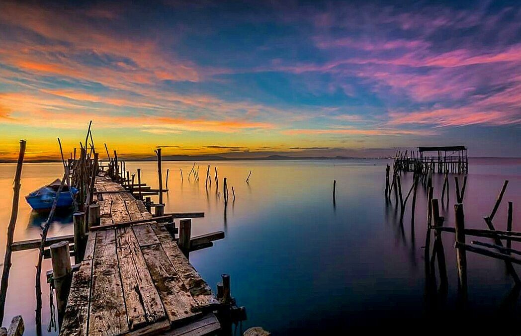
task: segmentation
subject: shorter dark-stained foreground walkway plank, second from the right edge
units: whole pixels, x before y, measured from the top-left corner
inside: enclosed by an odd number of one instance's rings
[[[196,303],[177,275],[162,246],[160,244],[145,246],[141,251],[169,320],[174,322],[193,317],[195,313],[192,312],[192,308]]]

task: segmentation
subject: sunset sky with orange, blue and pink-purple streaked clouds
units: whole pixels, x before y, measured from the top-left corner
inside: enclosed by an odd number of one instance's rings
[[[399,3],[3,0],[0,160],[521,156],[521,4]]]

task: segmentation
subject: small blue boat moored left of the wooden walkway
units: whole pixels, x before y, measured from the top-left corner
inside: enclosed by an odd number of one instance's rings
[[[42,188],[33,191],[26,196],[27,203],[29,203],[33,210],[36,211],[51,210],[60,184],[61,180],[56,179],[53,183],[47,184]],[[63,189],[60,192],[60,196],[58,197],[58,203],[56,204],[57,208],[67,208],[72,205],[71,192],[72,195],[76,195],[78,193],[78,189],[64,184]]]

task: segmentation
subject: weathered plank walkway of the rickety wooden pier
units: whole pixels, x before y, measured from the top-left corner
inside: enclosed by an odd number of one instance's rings
[[[101,226],[73,274],[60,335],[206,335],[220,302],[163,224],[118,183],[96,177]]]

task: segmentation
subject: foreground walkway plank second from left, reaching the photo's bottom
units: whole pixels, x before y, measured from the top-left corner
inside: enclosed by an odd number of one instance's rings
[[[89,335],[118,335],[129,330],[116,255],[114,230],[96,232]]]

